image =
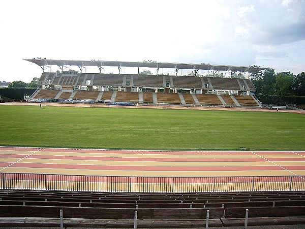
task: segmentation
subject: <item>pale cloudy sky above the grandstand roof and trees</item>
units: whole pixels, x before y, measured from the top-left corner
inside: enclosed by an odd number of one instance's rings
[[[305,0],[1,1],[0,81],[40,77],[23,60],[32,58],[257,65],[296,75],[305,72]]]

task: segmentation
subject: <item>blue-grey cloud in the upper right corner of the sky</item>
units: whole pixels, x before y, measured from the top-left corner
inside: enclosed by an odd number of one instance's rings
[[[279,45],[305,40],[305,1],[285,0],[232,6],[238,19],[232,20],[235,34],[254,44]]]

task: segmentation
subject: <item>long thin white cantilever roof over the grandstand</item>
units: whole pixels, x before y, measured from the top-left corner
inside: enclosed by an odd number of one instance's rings
[[[231,66],[231,65],[210,65],[210,64],[184,64],[184,63],[164,63],[164,62],[127,62],[127,61],[73,61],[73,60],[46,60],[46,59],[23,59],[39,66],[97,66],[101,67],[140,67],[140,68],[170,68],[170,69],[194,69],[194,70],[214,70],[231,72],[249,72],[265,70],[262,67],[253,66]]]

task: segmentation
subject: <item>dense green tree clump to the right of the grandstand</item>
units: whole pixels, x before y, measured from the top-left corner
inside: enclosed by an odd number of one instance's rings
[[[272,68],[251,75],[256,94],[275,96],[305,96],[305,72],[297,75],[291,72],[275,73]]]

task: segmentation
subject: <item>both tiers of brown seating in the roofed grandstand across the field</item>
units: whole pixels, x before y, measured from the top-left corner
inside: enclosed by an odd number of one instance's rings
[[[143,102],[147,104],[195,106],[261,106],[252,96],[233,96],[233,94],[240,94],[240,92],[255,92],[254,85],[249,79],[113,73],[78,73],[77,75],[60,75],[57,77],[57,73],[43,73],[39,83],[44,85],[43,88],[50,89],[58,89],[58,86],[62,85],[64,92],[57,94],[54,91],[41,90],[35,98],[31,99],[41,98],[52,101],[54,99],[56,101],[57,99],[72,99],[75,100],[74,102],[77,102],[77,100],[78,102],[79,100],[93,100],[94,102]],[[82,90],[73,92],[75,87],[77,87],[76,90]],[[88,91],[83,90],[83,87],[87,87]],[[71,92],[67,92],[67,90]],[[169,93],[172,91],[182,94]],[[190,92],[196,92],[196,94],[188,94]],[[203,94],[197,94],[198,92]]]

